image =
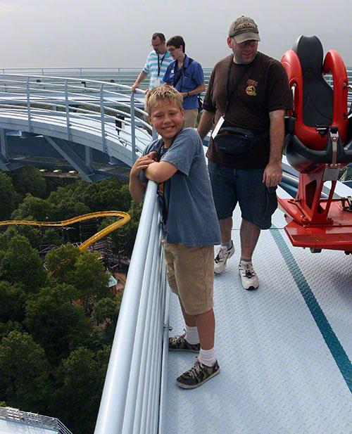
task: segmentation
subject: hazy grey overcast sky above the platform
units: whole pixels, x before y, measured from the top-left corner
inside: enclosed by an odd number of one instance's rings
[[[186,51],[212,67],[230,53],[230,24],[253,18],[259,50],[277,59],[315,34],[325,53],[352,66],[351,0],[0,0],[0,68],[142,66],[151,34],[181,34]]]

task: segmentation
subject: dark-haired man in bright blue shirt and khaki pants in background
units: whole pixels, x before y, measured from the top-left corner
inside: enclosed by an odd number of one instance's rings
[[[200,63],[184,52],[182,36],[173,36],[166,42],[168,52],[174,59],[168,65],[163,81],[175,87],[183,98],[184,128],[196,126],[198,116],[198,94],[206,90],[203,69]]]

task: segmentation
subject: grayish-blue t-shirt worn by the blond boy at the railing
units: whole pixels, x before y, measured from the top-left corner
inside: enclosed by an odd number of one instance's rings
[[[152,141],[144,155],[160,148],[162,139]],[[203,143],[193,128],[182,129],[161,158],[177,167],[164,184],[168,219],[162,225],[168,243],[187,246],[220,244],[220,228],[204,157]],[[142,171],[142,182],[148,179]]]

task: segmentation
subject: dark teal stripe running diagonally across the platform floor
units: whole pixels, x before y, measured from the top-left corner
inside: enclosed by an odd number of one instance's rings
[[[275,226],[272,226],[272,229],[274,230],[270,231],[270,233],[272,234],[272,237],[274,238],[275,243],[277,244],[277,247],[282,254],[282,257],[284,258],[287,267],[289,267],[289,271],[291,272],[291,275],[293,276],[294,281],[296,282],[296,285],[301,292],[301,295],[303,296],[303,299],[306,302],[306,305],[308,306],[308,309],[310,310],[310,313],[312,314],[314,321],[320,330],[320,333],[322,333],[322,337],[324,338],[325,343],[329,347],[329,350],[332,353],[332,357],[334,357],[334,360],[337,363],[337,366],[339,367],[342,376],[344,377],[344,381],[346,381],[348,389],[352,393],[351,360],[348,359],[348,355],[346,355],[344,347],[342,347],[339,339],[332,330],[332,326],[330,326],[327,317],[325,317],[324,312],[322,312],[322,309],[317,299],[315,298],[312,290],[310,289],[306,278],[303,276],[301,269],[298,267],[294,256],[292,255],[291,251],[287,246],[287,243],[284,241],[281,232],[277,230]]]

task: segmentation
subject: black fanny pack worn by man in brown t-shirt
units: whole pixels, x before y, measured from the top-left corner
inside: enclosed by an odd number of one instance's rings
[[[251,153],[256,141],[265,139],[268,132],[254,135],[249,129],[237,127],[222,127],[216,134],[214,143],[219,151],[231,155],[245,155]]]

